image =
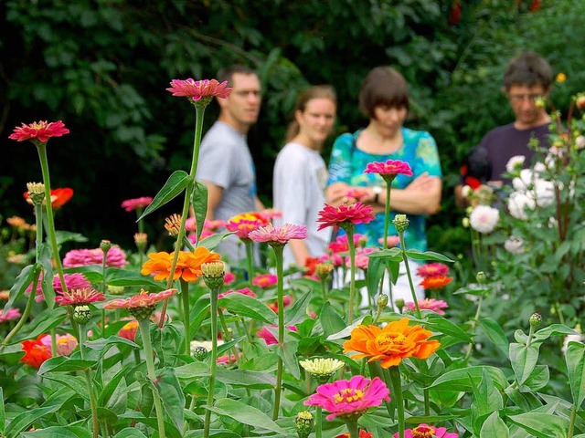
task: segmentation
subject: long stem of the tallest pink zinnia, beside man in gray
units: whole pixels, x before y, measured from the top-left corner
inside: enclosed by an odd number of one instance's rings
[[[193,158],[191,159],[191,169],[189,171],[190,183],[187,184],[185,190],[185,200],[183,201],[183,211],[181,212],[181,225],[179,226],[179,233],[176,235],[175,253],[173,254],[173,262],[171,263],[170,275],[166,280],[166,288],[170,289],[173,286],[173,276],[175,274],[176,264],[179,259],[179,251],[186,235],[185,224],[186,218],[189,214],[189,206],[191,205],[191,195],[193,194],[193,187],[195,186],[195,176],[197,172],[197,162],[199,161],[199,146],[201,145],[201,132],[203,131],[203,115],[205,108],[196,107],[196,122],[195,122],[195,139],[193,141]],[[197,227],[203,224],[197,224]],[[198,242],[197,242],[198,243]],[[166,307],[168,306],[169,298],[165,299],[163,309],[161,310],[161,320],[158,323],[159,328],[163,328],[165,324]]]

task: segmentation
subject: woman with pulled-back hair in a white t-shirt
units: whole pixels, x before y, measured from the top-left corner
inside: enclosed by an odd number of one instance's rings
[[[324,255],[331,229],[317,231],[324,206],[327,168],[321,150],[335,123],[337,99],[327,85],[303,91],[297,100],[286,144],[274,163],[273,203],[282,212],[275,224],[304,224],[308,236],[284,247],[284,266],[305,266],[308,257]]]

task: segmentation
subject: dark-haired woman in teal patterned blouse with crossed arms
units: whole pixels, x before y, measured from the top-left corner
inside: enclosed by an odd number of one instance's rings
[[[386,185],[377,173],[364,173],[368,162],[400,160],[408,162],[412,176],[399,174],[391,186],[391,219],[397,213],[407,214],[409,227],[404,234],[408,249],[427,248],[425,215],[436,213],[441,206],[441,164],[437,145],[431,134],[404,128],[409,111],[409,92],[406,80],[393,68],[372,69],[359,92],[359,110],[369,118],[365,129],[345,133],[334,143],[329,161],[329,181],[325,195],[328,203],[369,203],[376,219],[369,224],[357,224],[356,233],[367,235],[367,245],[379,246],[384,236]],[[358,189],[358,190],[356,190]],[[389,221],[388,236],[398,235]],[[406,270],[404,264],[400,272]],[[417,297],[424,297],[413,278]],[[391,297],[410,301],[410,286],[406,276],[399,276]]]

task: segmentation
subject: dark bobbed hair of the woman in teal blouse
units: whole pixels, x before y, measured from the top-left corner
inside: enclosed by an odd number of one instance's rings
[[[381,105],[409,110],[409,86],[391,67],[371,69],[359,91],[359,110],[370,119]]]

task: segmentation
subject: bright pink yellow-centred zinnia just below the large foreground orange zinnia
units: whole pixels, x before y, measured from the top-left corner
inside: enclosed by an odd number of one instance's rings
[[[361,416],[368,408],[390,401],[388,387],[378,377],[370,381],[364,376],[354,376],[349,381],[334,381],[318,386],[316,392],[304,404],[319,406],[327,412],[327,420],[335,417]]]

